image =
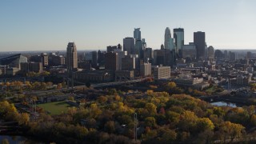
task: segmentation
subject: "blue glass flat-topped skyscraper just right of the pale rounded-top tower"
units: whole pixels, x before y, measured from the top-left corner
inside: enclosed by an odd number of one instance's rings
[[[176,46],[178,56],[179,58],[182,58],[182,46],[184,45],[184,29],[174,29],[174,40],[174,45]]]

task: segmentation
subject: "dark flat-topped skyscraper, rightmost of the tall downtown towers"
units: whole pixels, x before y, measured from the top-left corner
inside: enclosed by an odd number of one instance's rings
[[[194,45],[197,49],[197,59],[205,59],[206,34],[205,32],[194,32]]]

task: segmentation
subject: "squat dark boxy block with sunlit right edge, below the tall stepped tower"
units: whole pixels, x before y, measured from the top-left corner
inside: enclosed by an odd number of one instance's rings
[[[135,70],[136,63],[135,58],[130,55],[122,58],[122,70]]]

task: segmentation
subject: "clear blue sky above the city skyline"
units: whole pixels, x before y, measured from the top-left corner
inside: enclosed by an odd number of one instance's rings
[[[160,48],[166,27],[205,31],[208,46],[256,48],[255,0],[2,0],[0,51],[105,49],[140,27],[147,46]]]

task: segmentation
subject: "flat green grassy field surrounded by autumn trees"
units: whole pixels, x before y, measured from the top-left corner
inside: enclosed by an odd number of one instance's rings
[[[62,112],[66,112],[68,107],[70,107],[69,104],[67,104],[65,101],[61,102],[49,102],[44,104],[39,104],[38,107],[42,107],[42,109],[50,112],[50,115],[55,114],[62,114]]]

